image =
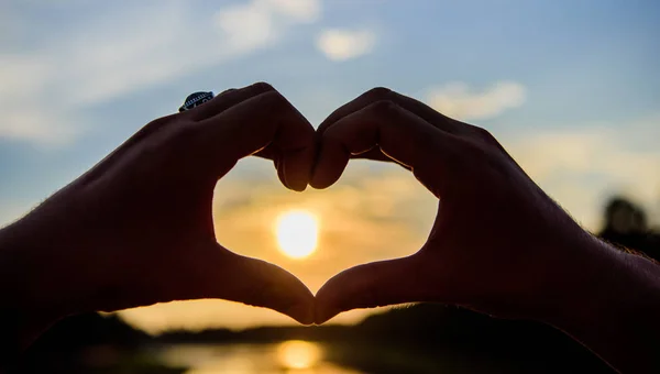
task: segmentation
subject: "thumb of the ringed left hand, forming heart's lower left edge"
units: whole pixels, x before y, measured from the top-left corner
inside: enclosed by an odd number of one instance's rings
[[[220,298],[265,307],[305,324],[314,322],[314,295],[296,276],[265,261],[215,244],[199,257],[187,298]]]

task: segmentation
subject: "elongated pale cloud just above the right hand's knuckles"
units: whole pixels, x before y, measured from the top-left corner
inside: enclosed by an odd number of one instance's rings
[[[427,102],[448,117],[483,120],[520,107],[526,98],[525,87],[515,81],[498,81],[481,92],[464,82],[451,82],[431,88]]]

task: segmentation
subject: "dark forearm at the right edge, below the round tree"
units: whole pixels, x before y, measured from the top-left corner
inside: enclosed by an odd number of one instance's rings
[[[660,266],[597,240],[591,245],[568,301],[543,321],[622,373],[660,373]]]

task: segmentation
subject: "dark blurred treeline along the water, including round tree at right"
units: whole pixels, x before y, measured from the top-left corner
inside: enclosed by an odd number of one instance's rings
[[[660,260],[660,234],[639,206],[616,197],[597,233],[617,246]],[[322,342],[328,359],[373,373],[613,373],[594,354],[541,323],[505,320],[442,305],[394,308],[356,326],[264,327],[243,331],[170,331],[150,337],[116,316],[88,314],[61,321],[34,344],[20,372],[180,373],[143,359],[121,358],[154,344]],[[135,356],[135,355],[131,355]]]

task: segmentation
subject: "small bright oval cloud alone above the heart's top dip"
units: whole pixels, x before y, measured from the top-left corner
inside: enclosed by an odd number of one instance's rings
[[[373,51],[376,35],[369,30],[324,30],[317,38],[317,48],[337,62],[355,58]]]

